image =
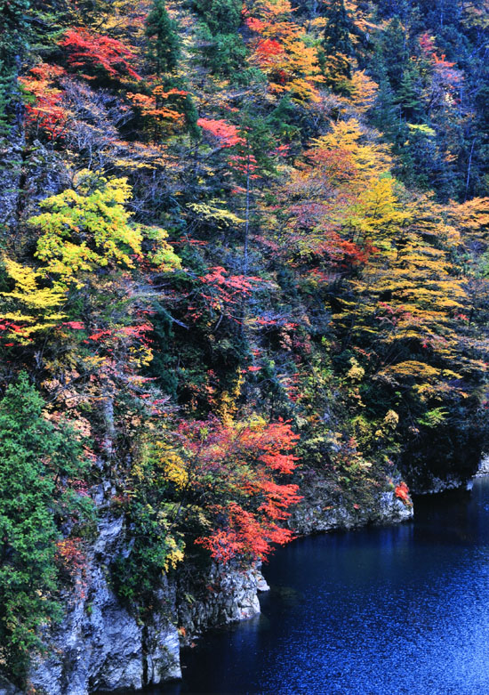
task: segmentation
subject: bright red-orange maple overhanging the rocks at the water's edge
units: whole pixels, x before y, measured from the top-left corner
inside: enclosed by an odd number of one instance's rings
[[[214,520],[213,530],[197,538],[197,545],[218,562],[264,560],[272,544],[293,538],[280,522],[289,515],[288,507],[300,501],[298,487],[274,479],[295,468],[292,451],[299,436],[290,424],[183,422],[179,436],[191,455],[193,494]]]

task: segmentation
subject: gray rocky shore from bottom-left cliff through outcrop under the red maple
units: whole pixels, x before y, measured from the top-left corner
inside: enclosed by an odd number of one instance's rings
[[[87,559],[83,589],[67,597],[67,616],[52,634],[49,651],[36,659],[29,682],[46,695],[85,695],[180,678],[180,636],[188,641],[209,626],[252,618],[258,592],[268,589],[257,567],[223,570],[212,565],[198,581],[162,582],[150,617],[140,620],[117,598],[108,563],[124,543],[123,517],[100,521]],[[190,592],[200,591],[198,596]],[[177,629],[177,625],[180,627]],[[9,690],[11,688],[11,690]],[[12,695],[0,682],[0,695]]]

